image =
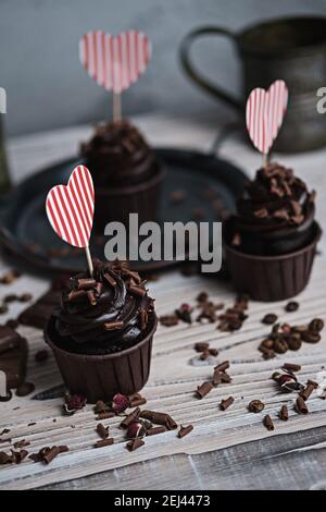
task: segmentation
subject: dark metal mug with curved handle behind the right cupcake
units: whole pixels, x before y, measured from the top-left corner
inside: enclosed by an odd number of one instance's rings
[[[195,69],[190,60],[192,42],[210,35],[227,36],[235,42],[242,64],[242,98],[215,86]],[[289,89],[289,105],[275,149],[298,153],[326,145],[326,114],[316,108],[317,89],[326,86],[326,17],[277,19],[236,34],[218,26],[203,26],[181,41],[180,61],[197,85],[237,110],[242,120],[250,92],[254,87],[267,89],[283,78]]]

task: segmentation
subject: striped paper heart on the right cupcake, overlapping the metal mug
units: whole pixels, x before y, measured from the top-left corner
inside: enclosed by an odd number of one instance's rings
[[[288,103],[288,88],[283,80],[274,82],[268,90],[253,89],[246,107],[249,136],[254,147],[267,155],[281,126]]]

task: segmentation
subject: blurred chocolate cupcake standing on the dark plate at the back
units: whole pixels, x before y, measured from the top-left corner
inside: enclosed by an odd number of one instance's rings
[[[82,145],[96,188],[95,228],[103,232],[110,221],[155,220],[163,169],[139,131],[127,121],[99,124]]]

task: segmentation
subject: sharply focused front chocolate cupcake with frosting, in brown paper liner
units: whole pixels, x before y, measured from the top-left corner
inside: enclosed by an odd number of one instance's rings
[[[71,278],[45,337],[70,392],[93,403],[145,386],[156,324],[139,275],[96,261],[92,278]]]

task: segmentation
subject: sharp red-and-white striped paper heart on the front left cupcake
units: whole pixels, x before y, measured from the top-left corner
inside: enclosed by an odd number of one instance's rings
[[[55,233],[75,247],[88,247],[95,208],[89,170],[78,166],[67,185],[53,186],[47,196],[48,219]]]

